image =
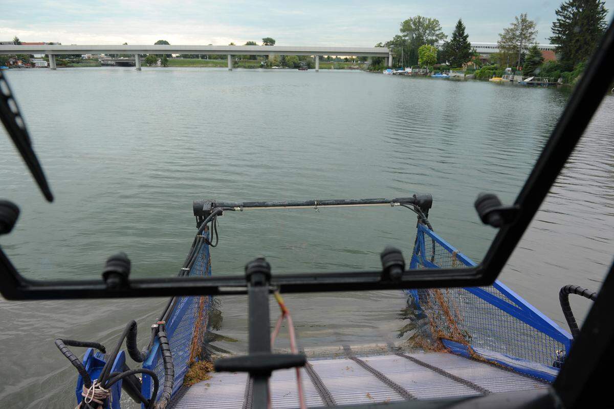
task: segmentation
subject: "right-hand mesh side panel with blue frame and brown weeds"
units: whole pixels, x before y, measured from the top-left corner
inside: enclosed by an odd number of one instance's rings
[[[462,266],[475,264],[438,235],[419,226],[411,268]],[[556,361],[569,348],[568,334],[499,281],[480,288],[412,290],[410,296],[416,308],[427,316],[433,340],[461,343],[470,354],[482,348],[556,367]]]

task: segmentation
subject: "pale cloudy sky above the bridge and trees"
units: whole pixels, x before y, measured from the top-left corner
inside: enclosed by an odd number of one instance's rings
[[[160,1],[2,0],[0,40],[69,44],[261,44],[373,47],[398,34],[415,15],[437,18],[451,34],[459,18],[469,40],[496,42],[516,15],[537,23],[536,40],[549,43],[556,1]],[[614,15],[614,0],[606,0]]]

